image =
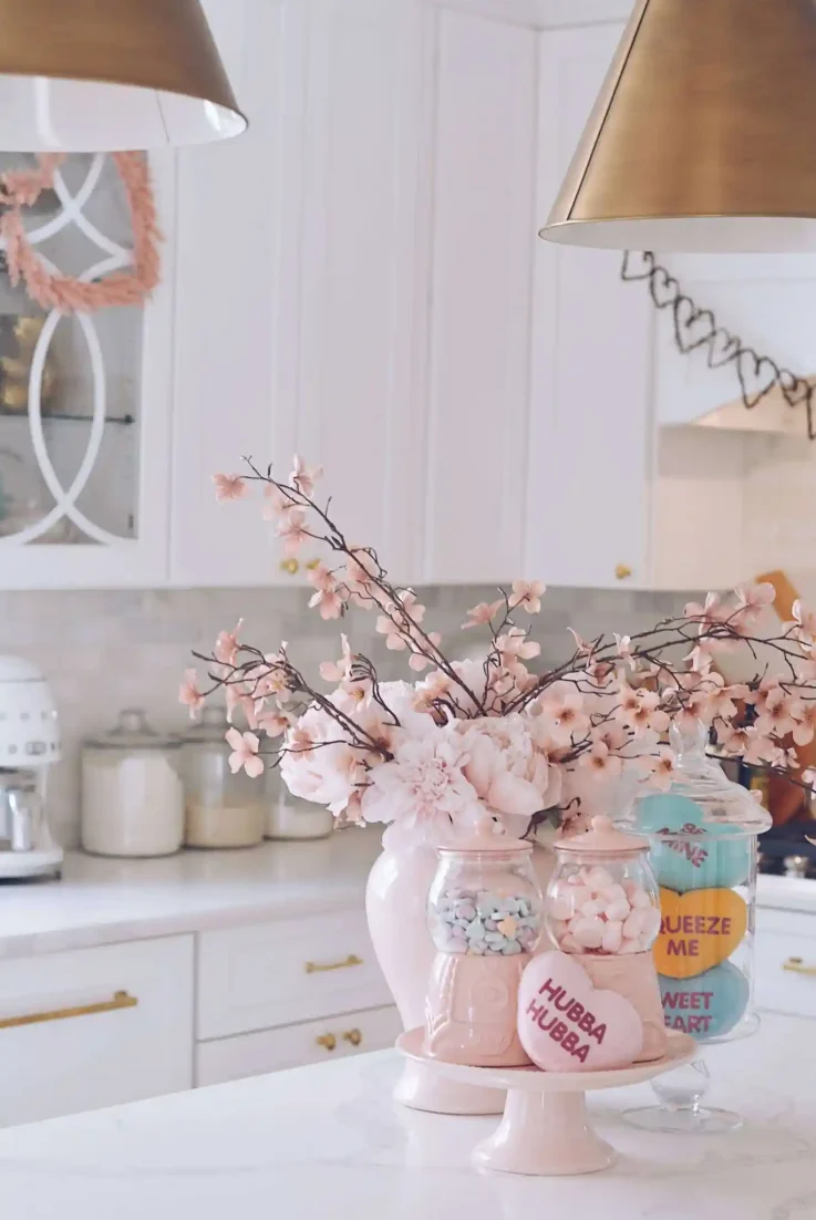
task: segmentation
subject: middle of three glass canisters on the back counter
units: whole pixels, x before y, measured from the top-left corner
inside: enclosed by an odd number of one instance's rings
[[[263,839],[267,799],[263,783],[229,767],[232,749],[222,708],[205,708],[182,748],[188,847],[256,847]]]

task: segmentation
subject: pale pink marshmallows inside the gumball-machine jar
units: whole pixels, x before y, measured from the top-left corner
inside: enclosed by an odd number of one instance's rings
[[[548,910],[564,953],[646,953],[660,931],[660,911],[649,892],[634,881],[618,884],[600,865],[560,882]]]

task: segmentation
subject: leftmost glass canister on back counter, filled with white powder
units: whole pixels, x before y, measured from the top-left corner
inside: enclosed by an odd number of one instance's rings
[[[91,855],[172,855],[184,834],[181,738],[152,731],[144,711],[82,750],[82,845]]]

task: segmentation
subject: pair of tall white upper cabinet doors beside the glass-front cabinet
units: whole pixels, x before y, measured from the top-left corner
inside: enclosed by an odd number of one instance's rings
[[[287,476],[295,450],[350,539],[412,569],[429,20],[412,0],[234,4],[250,131],[181,162],[174,583],[290,578],[257,503],[222,510],[210,475],[251,454]]]

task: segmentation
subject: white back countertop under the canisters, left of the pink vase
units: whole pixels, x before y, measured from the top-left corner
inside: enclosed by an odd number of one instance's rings
[[[0,891],[0,959],[361,908],[379,839],[372,828],[162,860],[71,854],[61,883]]]

